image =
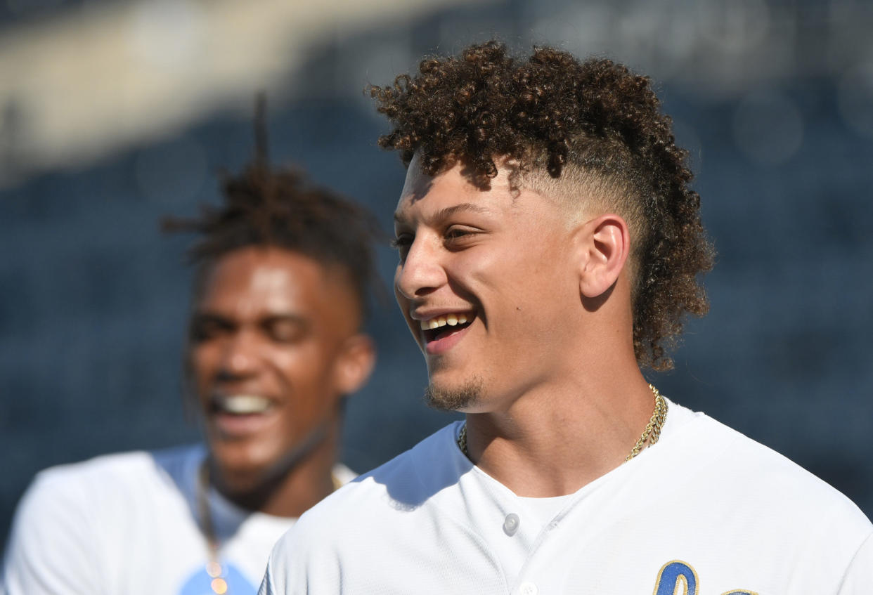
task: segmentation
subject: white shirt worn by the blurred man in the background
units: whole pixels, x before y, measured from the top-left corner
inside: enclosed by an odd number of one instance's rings
[[[209,550],[197,523],[203,447],[101,456],[39,473],[3,561],[6,595],[204,595]],[[336,469],[347,481],[354,474]],[[249,513],[217,493],[210,512],[229,595],[254,595],[295,519]],[[5,591],[3,591],[5,589]]]

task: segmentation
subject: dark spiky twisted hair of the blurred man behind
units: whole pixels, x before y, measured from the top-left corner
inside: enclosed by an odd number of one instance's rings
[[[201,236],[188,250],[197,277],[220,257],[247,246],[284,248],[322,264],[338,265],[366,317],[369,292],[379,288],[374,244],[382,239],[382,231],[375,217],[368,209],[313,185],[298,168],[270,167],[263,98],[258,98],[255,138],[254,160],[240,174],[222,174],[221,206],[203,205],[197,218],[167,217],[162,228]]]

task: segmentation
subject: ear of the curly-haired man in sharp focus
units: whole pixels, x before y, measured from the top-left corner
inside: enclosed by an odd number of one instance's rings
[[[581,247],[579,291],[583,298],[597,298],[615,284],[628,260],[628,223],[619,215],[601,215],[577,233]]]

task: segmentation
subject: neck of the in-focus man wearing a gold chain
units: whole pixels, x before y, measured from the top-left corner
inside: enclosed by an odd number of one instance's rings
[[[655,397],[634,371],[540,386],[506,411],[468,414],[471,460],[519,496],[572,494],[621,465],[649,423]]]

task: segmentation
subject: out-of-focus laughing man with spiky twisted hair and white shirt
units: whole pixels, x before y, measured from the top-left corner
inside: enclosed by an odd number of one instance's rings
[[[354,475],[343,401],[367,379],[372,216],[262,157],[199,232],[186,358],[205,448],[48,469],[19,506],[8,595],[253,594],[272,545]]]

